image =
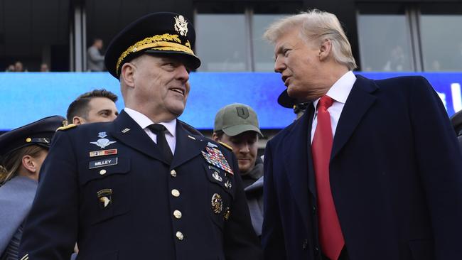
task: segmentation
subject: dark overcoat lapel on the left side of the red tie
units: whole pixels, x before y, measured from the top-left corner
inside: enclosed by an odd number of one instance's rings
[[[313,120],[313,105],[294,124],[293,129],[284,139],[284,166],[287,178],[294,193],[294,200],[303,219],[308,220],[308,191],[315,196],[313,166],[311,163],[311,121]],[[308,172],[311,172],[308,174]]]

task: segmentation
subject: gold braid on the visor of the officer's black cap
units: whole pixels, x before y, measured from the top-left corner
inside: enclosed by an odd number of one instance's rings
[[[139,42],[131,45],[127,50],[125,50],[122,55],[120,55],[119,60],[117,60],[116,73],[119,75],[119,67],[122,63],[122,60],[126,58],[131,53],[137,53],[140,50],[154,49],[154,50],[173,50],[181,51],[184,53],[189,53],[194,55],[193,50],[191,50],[191,45],[189,40],[185,45],[181,44],[181,40],[178,35],[165,33],[162,35],[152,36],[144,38]]]

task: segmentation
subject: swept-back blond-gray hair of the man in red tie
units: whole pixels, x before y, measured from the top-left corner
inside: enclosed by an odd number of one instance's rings
[[[281,18],[267,28],[264,38],[275,43],[284,33],[296,27],[300,28],[299,36],[306,43],[308,40],[319,40],[321,43],[330,40],[332,55],[337,63],[345,65],[348,70],[358,67],[351,52],[350,42],[345,36],[340,21],[333,13],[313,9]]]

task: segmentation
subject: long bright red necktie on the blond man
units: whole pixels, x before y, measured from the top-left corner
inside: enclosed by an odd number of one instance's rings
[[[319,242],[321,249],[329,259],[337,260],[343,249],[343,239],[340,222],[333,204],[331,183],[329,180],[329,161],[332,151],[331,115],[327,111],[333,99],[323,96],[318,102],[318,125],[313,136],[311,151],[313,152],[316,190],[318,193]]]

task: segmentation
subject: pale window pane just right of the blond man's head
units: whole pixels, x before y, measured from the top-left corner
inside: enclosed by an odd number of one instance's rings
[[[360,14],[358,34],[362,71],[412,71],[406,17]]]

